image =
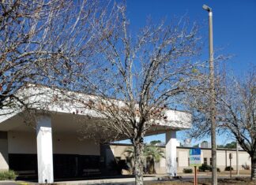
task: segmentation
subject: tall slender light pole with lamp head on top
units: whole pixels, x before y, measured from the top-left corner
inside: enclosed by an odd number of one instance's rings
[[[209,6],[203,5],[209,13],[209,80],[210,80],[210,94],[211,94],[211,142],[212,142],[212,184],[217,185],[216,173],[216,97],[214,87],[214,62],[213,62],[213,11]]]

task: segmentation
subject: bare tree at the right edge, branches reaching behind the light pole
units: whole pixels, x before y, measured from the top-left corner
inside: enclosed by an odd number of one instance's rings
[[[253,66],[247,75],[239,79],[227,76],[227,73],[222,74],[216,82],[217,131],[220,135],[229,133],[239,142],[243,150],[247,151],[251,160],[251,179],[255,179],[255,67]],[[190,98],[186,99],[186,102],[190,103],[190,108],[194,110],[194,128],[189,131],[191,137],[209,135],[209,97],[209,93],[204,91],[204,93],[190,95]]]

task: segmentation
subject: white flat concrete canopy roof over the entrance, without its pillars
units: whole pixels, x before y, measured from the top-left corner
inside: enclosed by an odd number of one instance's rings
[[[63,97],[63,91],[51,89],[49,87],[30,85],[28,88],[21,89],[18,96],[30,105],[29,109],[34,109],[37,113],[51,114],[52,130],[60,133],[77,133],[86,124],[88,132],[89,125],[95,124],[97,120],[105,119],[99,113],[88,109],[79,102],[73,102]],[[66,91],[65,94],[73,92]],[[84,98],[85,101],[93,99],[95,96],[88,94],[75,93],[77,97]],[[72,94],[73,95],[73,94]],[[61,101],[54,101],[58,97]],[[122,101],[117,101],[122,105]],[[34,131],[33,124],[25,124],[23,109],[5,109],[0,116],[0,131]],[[177,111],[165,110],[166,120],[154,120],[152,128],[146,135],[156,135],[165,133],[168,130],[183,130],[191,126],[191,114]],[[85,132],[86,133],[86,132]]]

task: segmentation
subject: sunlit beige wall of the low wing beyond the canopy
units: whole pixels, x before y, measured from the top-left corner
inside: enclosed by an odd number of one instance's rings
[[[132,147],[126,144],[114,144],[111,145],[112,154],[115,157],[121,157],[121,159],[126,159],[124,151],[127,147]],[[165,147],[162,146],[162,150],[165,153]],[[183,172],[183,168],[190,168],[189,166],[189,150],[190,147],[177,147],[177,172]],[[220,171],[224,171],[226,166],[230,165],[229,162],[229,154],[232,153],[232,168],[236,169],[236,151],[235,150],[224,150],[220,149],[217,150],[217,168],[220,168]],[[201,149],[201,164],[204,163],[204,158],[206,158],[207,165],[210,165],[210,158],[211,158],[211,150],[210,149]],[[113,157],[112,159],[113,160]],[[239,169],[243,169],[242,165],[249,165],[250,166],[250,157],[247,152],[239,150]],[[166,173],[165,167],[165,159],[160,159],[160,162],[155,164],[156,173]]]

